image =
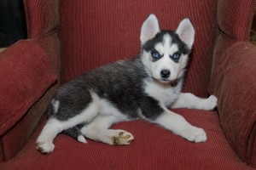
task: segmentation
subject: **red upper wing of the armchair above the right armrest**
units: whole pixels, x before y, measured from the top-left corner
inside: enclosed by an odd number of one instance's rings
[[[212,69],[226,48],[236,41],[248,42],[249,33],[256,10],[255,0],[218,1],[218,38],[214,47]]]

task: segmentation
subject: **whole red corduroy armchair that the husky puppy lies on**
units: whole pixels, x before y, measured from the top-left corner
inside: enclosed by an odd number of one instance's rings
[[[0,169],[250,169],[256,167],[256,47],[248,42],[255,0],[24,0],[28,38],[0,54]],[[60,134],[42,155],[35,140],[49,100],[81,72],[139,53],[148,14],[162,29],[189,17],[195,44],[183,87],[218,97],[218,111],[177,109],[207,132],[189,143],[143,121],[127,146]]]

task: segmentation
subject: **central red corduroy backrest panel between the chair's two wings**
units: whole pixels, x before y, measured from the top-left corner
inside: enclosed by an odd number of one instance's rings
[[[195,25],[184,91],[207,96],[217,30],[217,1],[61,1],[61,80],[139,53],[140,29],[154,13],[162,29],[176,29],[189,17]]]

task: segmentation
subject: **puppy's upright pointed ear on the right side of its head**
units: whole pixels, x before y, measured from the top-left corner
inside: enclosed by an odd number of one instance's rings
[[[195,29],[188,18],[180,22],[175,32],[178,37],[189,46],[189,48],[192,48],[195,38]]]

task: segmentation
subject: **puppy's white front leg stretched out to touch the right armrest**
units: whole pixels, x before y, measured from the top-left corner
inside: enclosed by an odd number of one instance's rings
[[[188,108],[211,111],[217,106],[218,99],[211,95],[208,99],[201,99],[194,94],[181,93],[176,102],[172,105],[172,108]]]

